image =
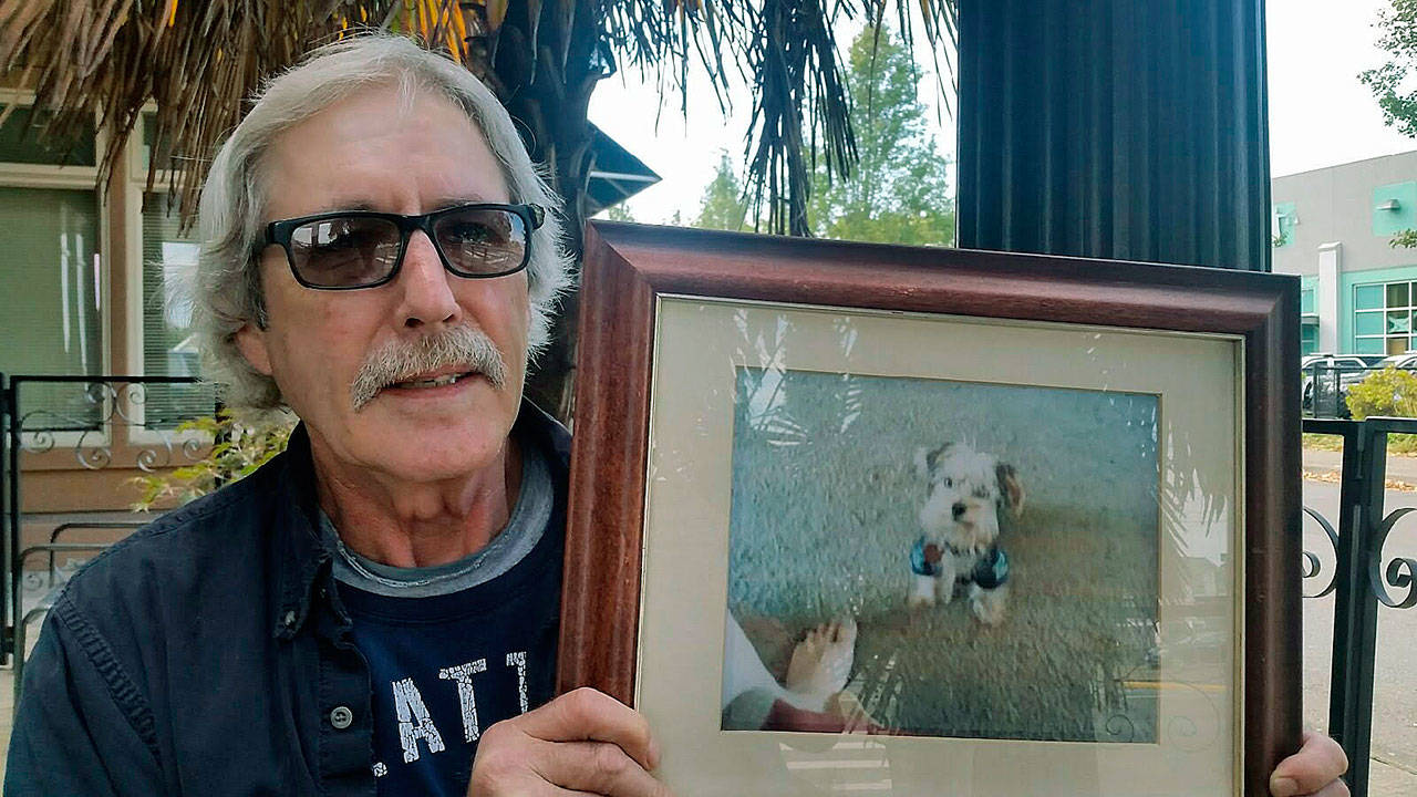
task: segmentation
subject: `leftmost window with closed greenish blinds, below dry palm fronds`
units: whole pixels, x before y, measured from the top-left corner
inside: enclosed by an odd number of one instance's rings
[[[3,108],[3,106],[0,106]],[[67,150],[40,142],[26,108],[0,125],[0,370],[103,373],[102,218],[94,133]],[[20,396],[27,428],[86,428],[84,386],[33,386]]]

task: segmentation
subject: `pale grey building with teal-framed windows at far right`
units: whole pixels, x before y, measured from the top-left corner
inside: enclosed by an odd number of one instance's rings
[[[1302,279],[1302,352],[1417,349],[1417,150],[1275,177],[1274,272]]]

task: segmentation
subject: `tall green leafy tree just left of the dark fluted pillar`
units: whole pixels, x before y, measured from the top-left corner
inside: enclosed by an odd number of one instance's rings
[[[951,244],[955,237],[948,160],[920,102],[920,69],[886,27],[852,43],[846,69],[859,162],[849,180],[825,163],[812,173],[808,220],[823,238]]]

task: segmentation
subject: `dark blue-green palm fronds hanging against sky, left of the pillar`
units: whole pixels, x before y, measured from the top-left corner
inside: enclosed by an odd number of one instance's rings
[[[954,84],[956,3],[894,3],[905,45],[914,47],[918,34],[931,45],[944,108],[951,115],[954,87],[945,81]],[[751,91],[745,155],[754,217],[767,218],[769,231],[803,235],[808,174],[816,159],[837,177],[847,177],[856,163],[836,23],[880,21],[887,6],[884,0],[611,3],[605,37],[622,65],[652,75],[662,95],[677,92],[684,113],[691,67],[704,69],[724,109],[735,71]]]

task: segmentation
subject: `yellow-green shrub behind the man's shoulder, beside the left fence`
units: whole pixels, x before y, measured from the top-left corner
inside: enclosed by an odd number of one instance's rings
[[[245,478],[285,451],[295,424],[295,416],[286,413],[237,416],[230,410],[183,421],[179,431],[203,434],[215,444],[191,465],[135,478],[142,496],[133,503],[133,511],[187,503],[222,484]]]

